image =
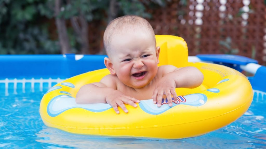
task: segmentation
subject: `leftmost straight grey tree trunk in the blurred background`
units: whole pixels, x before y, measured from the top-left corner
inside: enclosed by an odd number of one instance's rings
[[[71,48],[67,35],[65,19],[59,17],[60,9],[61,9],[61,0],[55,0],[55,20],[58,31],[59,43],[61,47],[61,53],[66,54],[66,53],[71,53]]]

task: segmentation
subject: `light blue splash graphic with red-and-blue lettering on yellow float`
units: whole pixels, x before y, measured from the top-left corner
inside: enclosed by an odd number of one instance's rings
[[[161,105],[161,107],[157,107],[157,105],[153,103],[152,99],[140,101],[139,106],[146,113],[152,115],[158,115],[180,104],[198,107],[202,106],[207,102],[207,96],[204,94],[197,93],[197,94],[185,95],[183,97],[186,99],[186,102],[180,102],[179,104],[173,103],[172,107],[170,107],[168,104],[163,104]]]

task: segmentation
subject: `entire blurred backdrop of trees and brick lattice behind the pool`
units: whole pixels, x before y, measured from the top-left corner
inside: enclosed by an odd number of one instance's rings
[[[0,54],[105,54],[116,17],[146,18],[189,55],[237,54],[266,65],[266,0],[0,0]]]

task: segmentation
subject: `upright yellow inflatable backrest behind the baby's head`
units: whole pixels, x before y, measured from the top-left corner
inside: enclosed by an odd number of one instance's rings
[[[184,67],[188,64],[188,46],[181,37],[155,35],[156,46],[160,46],[159,64]]]

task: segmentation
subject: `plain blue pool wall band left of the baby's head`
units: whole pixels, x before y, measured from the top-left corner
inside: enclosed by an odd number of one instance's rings
[[[69,78],[105,68],[106,55],[0,55],[0,80],[6,78]]]

